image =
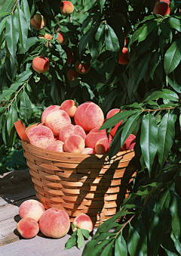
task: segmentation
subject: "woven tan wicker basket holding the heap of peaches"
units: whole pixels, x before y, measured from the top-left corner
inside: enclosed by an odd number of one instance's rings
[[[66,211],[71,222],[84,213],[100,226],[118,211],[137,173],[133,150],[108,161],[108,155],[49,151],[25,141],[22,145],[38,200],[46,209]]]

